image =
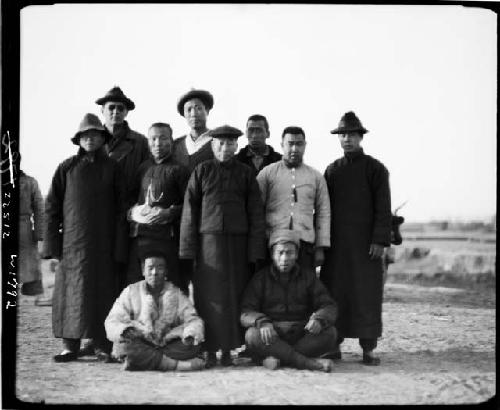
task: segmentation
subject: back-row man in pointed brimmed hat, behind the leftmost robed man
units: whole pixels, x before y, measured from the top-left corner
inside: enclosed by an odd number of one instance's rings
[[[126,200],[129,205],[135,202],[130,188],[133,186],[137,169],[143,161],[149,158],[148,141],[146,137],[130,129],[128,112],[135,108],[134,102],[128,98],[120,87],[113,87],[104,97],[96,100],[101,105],[104,126],[112,135],[107,143],[108,155],[115,159],[121,169],[127,188]]]

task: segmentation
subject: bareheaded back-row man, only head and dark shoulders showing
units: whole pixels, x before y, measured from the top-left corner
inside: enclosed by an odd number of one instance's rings
[[[248,145],[240,150],[236,158],[259,173],[265,166],[281,160],[281,154],[266,144],[269,138],[269,124],[266,117],[254,114],[248,117],[246,135]]]

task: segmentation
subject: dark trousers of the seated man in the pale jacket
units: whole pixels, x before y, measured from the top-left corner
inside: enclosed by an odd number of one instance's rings
[[[157,370],[163,356],[174,360],[189,360],[198,356],[200,346],[185,345],[180,339],[172,340],[163,347],[146,340],[122,340],[118,356],[127,356],[131,370]]]

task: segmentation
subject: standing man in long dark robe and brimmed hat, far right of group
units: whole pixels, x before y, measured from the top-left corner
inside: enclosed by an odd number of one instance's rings
[[[380,358],[373,350],[382,335],[381,257],[391,241],[391,193],[386,167],[361,148],[367,132],[352,111],[331,131],[338,134],[344,156],[325,171],[332,207],[332,247],[320,278],[339,307],[338,345],[332,358],[341,358],[344,338],[357,338],[362,362],[378,365]]]

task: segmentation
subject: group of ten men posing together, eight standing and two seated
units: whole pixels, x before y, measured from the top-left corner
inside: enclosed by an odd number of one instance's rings
[[[135,104],[119,87],[96,103],[104,125],[84,116],[45,204],[55,361],[199,370],[239,350],[269,369],[331,371],[347,337],[363,363],[380,362],[389,175],[363,152],[353,112],[331,131],[344,156],[322,175],[303,162],[304,130],[283,130],[281,155],[262,115],[236,153],[243,132],[207,127],[205,90],[178,100],[190,131],[175,140],[163,122],[147,138],[131,130]]]

